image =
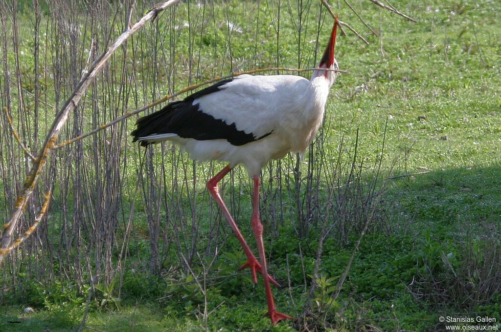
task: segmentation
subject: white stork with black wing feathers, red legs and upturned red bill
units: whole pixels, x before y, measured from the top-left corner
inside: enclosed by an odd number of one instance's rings
[[[250,267],[254,282],[256,271],[265,276],[267,315],[274,325],[294,318],[278,312],[273,301],[270,283],[278,283],[268,274],[266,265],[259,217],[259,175],[271,159],[280,159],[289,151],[303,152],[315,137],[337,76],[336,30],[337,20],[310,80],[295,75],[240,75],[223,80],[139,118],[131,133],[133,141],[143,146],[170,140],[195,160],[228,162],[207,182],[207,188],[245,251],[247,262],[240,269]],[[237,164],[243,164],[254,180],[252,227],[261,263],[245,242],[217,187]]]

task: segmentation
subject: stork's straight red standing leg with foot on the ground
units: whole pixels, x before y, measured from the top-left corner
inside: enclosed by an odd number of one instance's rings
[[[265,255],[265,243],[263,242],[263,224],[259,219],[259,175],[254,176],[254,192],[252,199],[252,227],[254,229],[254,235],[256,236],[256,243],[258,245],[259,259],[261,260],[261,267],[263,275],[268,274],[268,269],[266,266],[266,255]],[[284,319],[294,319],[284,313],[278,312],[275,307],[275,302],[273,301],[272,288],[270,287],[270,282],[267,278],[264,278],[266,298],[268,300],[268,313],[273,325],[276,325],[279,321]]]

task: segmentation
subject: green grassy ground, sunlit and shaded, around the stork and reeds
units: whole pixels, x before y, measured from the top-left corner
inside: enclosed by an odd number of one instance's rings
[[[394,2],[418,23],[383,13],[381,42],[369,37],[371,45],[364,46],[354,36],[338,40],[340,68],[350,73],[340,76],[331,90],[329,130],[333,140],[345,135],[350,154],[359,128],[358,154],[372,164],[388,120],[383,174],[392,166],[396,175],[429,172],[389,180],[383,196],[388,226],[363,239],[335,302],[330,298],[357,236],[342,245],[325,243],[323,278],[314,303],[314,311],[324,315],[318,321],[325,324],[318,326],[426,331],[443,328],[439,316],[476,315],[499,322],[501,296],[489,293],[494,289],[489,287],[500,280],[489,282],[484,277],[491,275],[482,273],[497,266],[495,250],[501,248],[501,6],[497,1]],[[243,10],[242,5],[235,10]],[[372,22],[379,22],[379,15],[366,12]],[[285,36],[288,19],[283,19]],[[243,18],[237,23],[243,24]],[[291,33],[290,47],[292,38]],[[287,44],[284,40],[284,54]],[[243,46],[235,50],[235,57],[244,56]],[[336,149],[337,142],[328,144]],[[302,312],[316,244],[315,238],[297,239],[292,229],[269,241],[271,269],[281,282],[290,283],[275,291],[284,312]],[[97,291],[86,325],[105,331],[203,326],[218,331],[294,330],[292,322],[272,327],[262,317],[262,283],[253,286],[247,273],[235,272],[242,257],[236,241],[228,241],[224,250],[209,273],[212,282],[205,297],[189,275],[157,279],[131,271],[124,277],[120,300],[113,289]],[[147,254],[147,247],[142,252]],[[289,262],[281,252],[289,253]],[[289,275],[288,263],[304,269]],[[78,326],[86,294],[77,294],[71,283],[45,289],[33,282],[29,289],[0,308],[0,330],[66,331]],[[478,298],[473,300],[473,294]],[[32,302],[44,304],[22,315],[22,307]],[[207,321],[199,318],[205,302],[211,312]]]

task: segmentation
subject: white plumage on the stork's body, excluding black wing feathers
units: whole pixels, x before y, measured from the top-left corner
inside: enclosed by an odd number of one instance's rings
[[[243,145],[226,139],[197,140],[174,133],[139,137],[139,141],[171,140],[200,161],[227,161],[230,167],[243,164],[249,175],[259,174],[271,159],[289,151],[303,152],[322,123],[332,83],[319,75],[311,81],[294,75],[240,75],[219,91],[202,95],[193,105],[237,130],[254,137],[267,136]]]

